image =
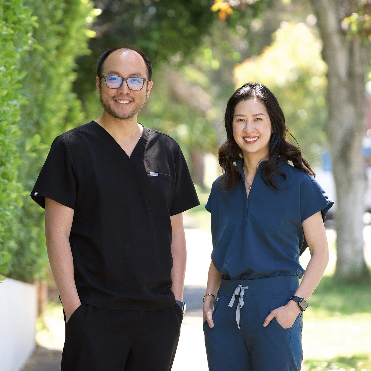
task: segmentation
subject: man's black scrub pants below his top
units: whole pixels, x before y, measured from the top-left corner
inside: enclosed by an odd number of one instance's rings
[[[108,311],[82,304],[66,324],[61,371],[169,371],[183,314]]]

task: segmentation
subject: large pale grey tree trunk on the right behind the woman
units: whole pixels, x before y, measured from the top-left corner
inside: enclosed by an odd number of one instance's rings
[[[322,34],[322,56],[328,65],[330,144],[336,186],[335,277],[343,282],[370,282],[363,251],[366,174],[362,157],[365,125],[365,68],[368,44],[347,38],[342,20],[355,12],[355,0],[311,0]],[[343,24],[344,25],[344,24]]]

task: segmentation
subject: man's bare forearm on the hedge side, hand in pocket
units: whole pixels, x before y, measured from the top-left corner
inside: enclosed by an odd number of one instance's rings
[[[73,258],[69,237],[53,233],[46,237],[47,253],[63,309],[69,317],[81,304],[73,276]]]

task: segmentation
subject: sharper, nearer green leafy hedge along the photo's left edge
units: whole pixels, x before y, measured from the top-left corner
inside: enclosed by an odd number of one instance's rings
[[[10,255],[6,240],[22,207],[23,190],[17,178],[21,161],[17,150],[20,131],[22,79],[26,72],[20,58],[32,45],[35,18],[22,0],[5,1],[0,5],[0,272],[7,273]],[[5,242],[4,242],[5,241]],[[4,279],[0,275],[0,280]]]

